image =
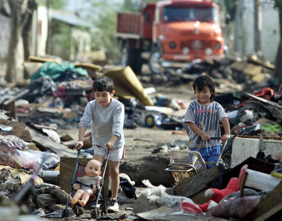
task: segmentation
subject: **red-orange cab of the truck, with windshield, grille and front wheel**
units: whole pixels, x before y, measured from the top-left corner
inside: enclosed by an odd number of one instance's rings
[[[160,1],[155,6],[149,66],[182,68],[194,59],[221,60],[224,38],[218,6],[211,1]]]

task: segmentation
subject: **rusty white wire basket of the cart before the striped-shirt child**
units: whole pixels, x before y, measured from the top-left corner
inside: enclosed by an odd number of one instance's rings
[[[206,163],[197,151],[173,150],[170,152],[170,164],[165,170],[170,172],[176,184],[205,171]]]

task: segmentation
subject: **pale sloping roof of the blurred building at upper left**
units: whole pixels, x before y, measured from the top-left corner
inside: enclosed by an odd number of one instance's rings
[[[63,21],[69,25],[76,25],[82,27],[93,27],[93,25],[78,17],[74,12],[63,11],[63,10],[52,10],[52,19]]]

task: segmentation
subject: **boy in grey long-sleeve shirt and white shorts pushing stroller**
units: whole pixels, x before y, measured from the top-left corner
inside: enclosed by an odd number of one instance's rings
[[[119,211],[116,200],[119,190],[119,162],[124,154],[124,105],[112,98],[115,94],[114,83],[109,77],[96,78],[93,83],[95,100],[88,102],[78,129],[76,149],[83,147],[85,131],[92,122],[93,159],[103,164],[104,158],[110,151],[110,176],[112,179],[112,197],[109,199],[108,212]]]

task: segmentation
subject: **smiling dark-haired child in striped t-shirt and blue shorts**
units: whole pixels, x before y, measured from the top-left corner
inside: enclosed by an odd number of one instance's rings
[[[223,107],[214,101],[215,87],[210,76],[202,75],[193,82],[197,100],[193,101],[185,114],[183,123],[188,124],[189,149],[197,151],[201,140],[203,145],[198,150],[204,161],[216,162],[220,154],[221,142],[230,138],[230,125]],[[220,122],[225,134],[220,134]],[[220,140],[211,140],[220,137]],[[212,164],[207,165],[213,167]]]

